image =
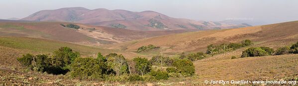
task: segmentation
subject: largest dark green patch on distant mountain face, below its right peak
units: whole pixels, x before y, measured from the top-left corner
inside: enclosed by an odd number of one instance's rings
[[[160,22],[159,20],[156,19],[150,19],[148,20],[148,22],[150,22],[149,27],[153,27],[153,28],[157,28],[157,29],[165,29],[168,28],[166,25],[164,25],[162,22]]]

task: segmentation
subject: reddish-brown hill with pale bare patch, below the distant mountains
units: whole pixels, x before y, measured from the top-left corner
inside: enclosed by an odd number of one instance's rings
[[[81,28],[76,30],[63,27],[60,24],[66,25],[70,23],[0,20],[0,36],[30,37],[78,43],[83,45],[101,45],[122,43],[154,36],[196,31],[133,31],[84,24],[77,24]]]

